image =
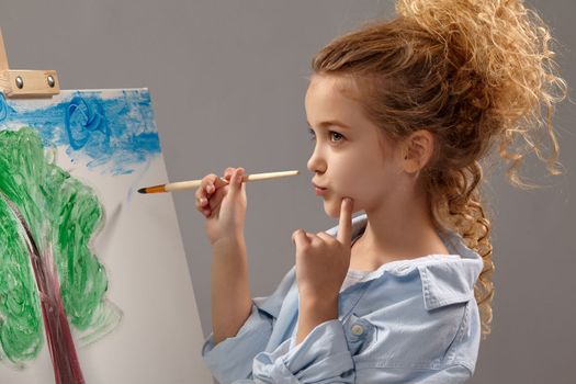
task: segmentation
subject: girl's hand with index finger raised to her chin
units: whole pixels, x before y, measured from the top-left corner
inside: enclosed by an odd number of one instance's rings
[[[325,231],[314,235],[304,229],[292,234],[301,300],[320,303],[337,300],[350,268],[352,206],[350,197],[342,199],[337,237]]]

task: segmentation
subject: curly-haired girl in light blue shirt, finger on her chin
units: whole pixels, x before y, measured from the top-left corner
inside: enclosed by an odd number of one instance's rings
[[[196,207],[213,247],[221,383],[462,383],[490,331],[490,223],[479,182],[495,146],[557,174],[546,25],[520,0],[399,0],[398,16],[332,41],[313,59],[307,162],[339,225],[292,235],[295,267],[269,297],[249,293],[242,168],[206,176]],[[541,103],[553,144],[532,131]],[[512,148],[517,139],[528,146]],[[512,149],[511,151],[509,149]],[[364,211],[352,218],[352,213]]]

